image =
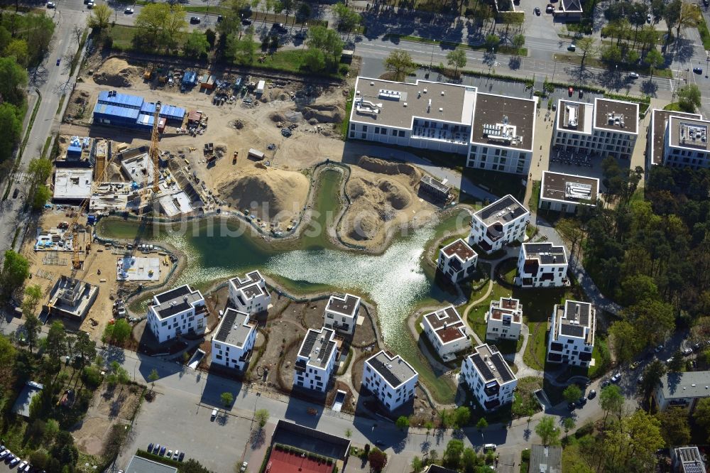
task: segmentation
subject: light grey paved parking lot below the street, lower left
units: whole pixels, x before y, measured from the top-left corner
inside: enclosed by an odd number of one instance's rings
[[[169,396],[166,399],[158,394],[153,402],[143,403],[129,442],[116,462],[117,469],[125,469],[136,450],[146,450],[152,442],[185,452],[185,460],[194,458],[214,472],[232,471],[234,464],[242,461],[251,420],[224,415],[220,410],[213,421],[213,407],[200,406],[195,396],[181,391],[170,391]],[[244,459],[250,464],[251,452],[247,449]],[[261,464],[261,458],[254,461]]]

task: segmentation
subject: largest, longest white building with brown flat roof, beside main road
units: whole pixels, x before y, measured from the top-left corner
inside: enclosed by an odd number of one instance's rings
[[[471,167],[528,175],[537,97],[358,77],[348,137],[466,155]]]

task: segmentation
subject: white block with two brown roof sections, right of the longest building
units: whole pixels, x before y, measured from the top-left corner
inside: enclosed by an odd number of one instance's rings
[[[560,99],[552,143],[574,153],[630,159],[638,138],[638,104],[597,97],[594,104]]]

